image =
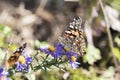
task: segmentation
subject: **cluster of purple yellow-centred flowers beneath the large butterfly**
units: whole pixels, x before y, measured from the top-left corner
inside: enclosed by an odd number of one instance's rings
[[[79,67],[80,63],[76,62],[78,55],[69,49],[66,49],[64,45],[57,43],[54,46],[49,46],[48,48],[40,48],[41,52],[45,52],[46,54],[51,55],[54,59],[62,58],[62,56],[66,55],[68,62],[71,64],[73,69]]]

